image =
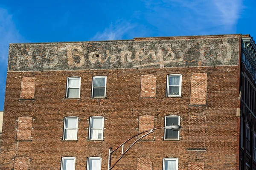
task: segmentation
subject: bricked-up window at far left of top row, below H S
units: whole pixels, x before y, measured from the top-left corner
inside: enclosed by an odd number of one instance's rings
[[[35,97],[35,77],[23,77],[21,81],[20,98],[33,99]]]

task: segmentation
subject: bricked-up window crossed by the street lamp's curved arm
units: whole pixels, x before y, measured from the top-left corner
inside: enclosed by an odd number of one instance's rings
[[[143,115],[139,118],[139,132],[143,132],[148,129],[154,128],[154,116],[151,115]],[[145,135],[143,133],[139,135],[139,137]],[[143,139],[154,139],[154,133],[149,134],[148,136],[143,137]]]

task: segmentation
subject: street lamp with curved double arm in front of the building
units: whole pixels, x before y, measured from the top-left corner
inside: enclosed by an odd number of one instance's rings
[[[136,143],[138,142],[140,139],[144,138],[145,136],[149,135],[150,133],[153,133],[155,130],[157,129],[171,129],[173,131],[179,131],[180,130],[180,125],[169,125],[169,126],[165,126],[165,127],[157,127],[154,129],[149,129],[149,130],[145,130],[143,132],[140,132],[134,136],[132,136],[130,139],[126,140],[125,142],[123,142],[121,145],[119,145],[119,147],[117,147],[116,149],[112,150],[112,147],[109,148],[109,152],[108,152],[108,170],[112,170],[112,168],[116,165],[116,163],[125,155],[125,153],[127,153],[127,151]],[[146,133],[148,132],[148,133]],[[135,142],[133,142],[128,148],[127,150],[124,151],[124,144],[126,142],[128,142],[129,140],[135,138],[136,136],[142,134],[142,133],[146,133],[145,135],[141,136],[140,138],[138,138]],[[122,155],[119,157],[119,159],[117,159],[117,161],[113,164],[113,166],[111,166],[111,156],[112,153],[115,152],[117,149],[119,149],[120,147],[122,147]]]

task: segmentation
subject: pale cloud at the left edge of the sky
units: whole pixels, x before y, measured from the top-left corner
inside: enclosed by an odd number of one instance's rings
[[[0,8],[0,62],[7,64],[9,43],[21,42],[24,38],[12,20],[12,14]]]

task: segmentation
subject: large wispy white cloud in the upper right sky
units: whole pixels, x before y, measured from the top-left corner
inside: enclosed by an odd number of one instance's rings
[[[162,35],[233,34],[242,0],[143,0],[145,18]]]

